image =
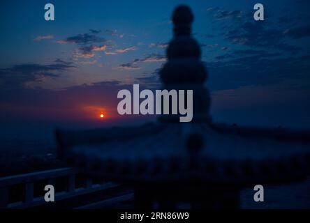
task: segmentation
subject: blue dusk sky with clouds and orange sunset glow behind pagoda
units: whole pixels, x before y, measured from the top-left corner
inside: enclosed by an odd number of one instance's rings
[[[54,0],[54,21],[44,20],[45,3],[0,3],[2,125],[133,118],[117,114],[117,92],[161,88],[171,14],[185,3],[215,122],[310,127],[310,1]],[[253,20],[255,3],[264,21]]]

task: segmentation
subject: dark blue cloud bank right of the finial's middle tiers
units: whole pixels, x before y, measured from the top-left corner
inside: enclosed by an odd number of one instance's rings
[[[310,89],[310,55],[279,58],[278,54],[248,51],[224,55],[225,61],[206,63],[209,89],[219,91],[249,85],[279,84],[281,82],[307,85]],[[274,56],[274,57],[272,57]],[[225,81],[223,81],[225,80]],[[292,85],[293,86],[293,85]]]

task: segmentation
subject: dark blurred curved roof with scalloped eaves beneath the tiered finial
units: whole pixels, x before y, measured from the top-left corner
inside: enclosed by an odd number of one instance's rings
[[[192,125],[151,123],[58,134],[68,164],[111,180],[191,179],[246,185],[302,178],[310,169],[310,137],[305,137],[309,132],[256,128],[232,132],[225,125]]]

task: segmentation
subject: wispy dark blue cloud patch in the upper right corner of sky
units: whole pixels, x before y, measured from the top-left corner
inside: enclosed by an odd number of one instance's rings
[[[208,8],[207,12],[215,20],[212,23],[212,30],[223,40],[232,43],[230,49],[233,48],[233,45],[239,45],[239,47],[252,49],[260,48],[299,54],[303,49],[296,44],[295,40],[310,36],[310,25],[306,22],[309,20],[302,13],[286,15],[287,12],[284,11],[279,17],[276,17],[275,14],[274,17],[268,14],[269,20],[256,22],[253,20],[253,11],[251,10],[223,10],[216,7]],[[267,16],[267,13],[265,14]],[[219,57],[226,56],[220,55]]]

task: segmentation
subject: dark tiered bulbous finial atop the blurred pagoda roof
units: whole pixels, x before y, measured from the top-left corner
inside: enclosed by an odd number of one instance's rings
[[[191,37],[193,13],[180,5],[172,15],[174,38],[167,48],[168,62],[160,71],[163,89],[193,90],[193,121],[209,121],[209,92],[205,89],[207,70],[200,61],[201,50]],[[161,121],[177,121],[178,115],[161,116]]]

